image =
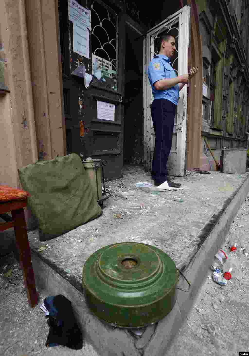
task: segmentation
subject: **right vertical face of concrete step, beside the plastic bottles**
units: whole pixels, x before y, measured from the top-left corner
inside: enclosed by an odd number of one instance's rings
[[[158,323],[157,331],[145,349],[144,356],[167,355],[167,349],[169,349],[170,344],[174,340],[174,336],[189,314],[198,292],[205,282],[207,273],[210,271],[209,268],[213,261],[213,256],[224,243],[229,227],[245,200],[245,197],[247,197],[248,192],[249,177],[244,180],[236,192],[226,200],[222,209],[217,211],[217,214],[214,214],[210,222],[202,229],[200,238],[202,238],[203,233],[207,232],[209,225],[208,235],[184,271],[186,278],[191,283],[190,292],[186,293],[178,290],[177,305],[175,305],[174,309],[166,318]]]

